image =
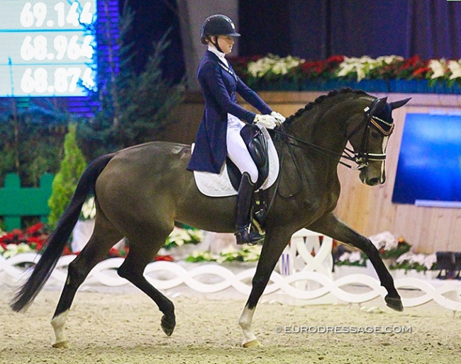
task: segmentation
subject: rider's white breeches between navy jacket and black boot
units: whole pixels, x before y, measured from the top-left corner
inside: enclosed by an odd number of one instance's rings
[[[240,122],[241,123],[241,122]],[[244,124],[242,123],[242,126]],[[229,125],[227,129],[227,154],[231,161],[235,163],[241,174],[247,172],[252,183],[257,181],[257,168],[255,162],[248,152],[245,142],[240,137],[240,129],[235,123]]]

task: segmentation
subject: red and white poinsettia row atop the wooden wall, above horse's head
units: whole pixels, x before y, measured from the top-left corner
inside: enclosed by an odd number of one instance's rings
[[[379,92],[461,93],[461,59],[335,55],[306,60],[269,54],[234,57],[230,62],[258,91],[323,91],[346,86]]]

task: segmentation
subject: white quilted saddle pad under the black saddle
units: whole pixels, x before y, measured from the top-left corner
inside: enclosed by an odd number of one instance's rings
[[[263,130],[263,134],[267,139],[267,149],[269,153],[269,176],[267,176],[266,181],[262,183],[260,188],[265,190],[266,188],[270,188],[277,180],[277,176],[279,176],[279,157],[274,142],[272,142],[267,130]],[[200,192],[204,195],[211,197],[237,195],[237,190],[235,190],[232,183],[230,183],[226,163],[223,164],[221,174],[194,171],[194,177],[197,188],[199,188]]]

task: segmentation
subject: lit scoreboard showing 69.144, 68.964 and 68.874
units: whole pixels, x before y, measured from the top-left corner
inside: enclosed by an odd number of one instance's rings
[[[94,89],[96,0],[0,0],[0,97]]]

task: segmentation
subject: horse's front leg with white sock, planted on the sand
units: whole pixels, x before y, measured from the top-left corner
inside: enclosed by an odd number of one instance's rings
[[[264,292],[267,283],[269,282],[270,275],[277,264],[282,251],[287,246],[290,239],[290,234],[274,234],[273,232],[266,232],[264,245],[260,259],[257,262],[256,273],[252,279],[252,289],[250,297],[243,309],[238,324],[243,330],[243,343],[244,348],[250,348],[252,346],[260,346],[260,342],[256,339],[255,334],[251,329],[253,315],[257,302],[260,300],[262,293]]]

